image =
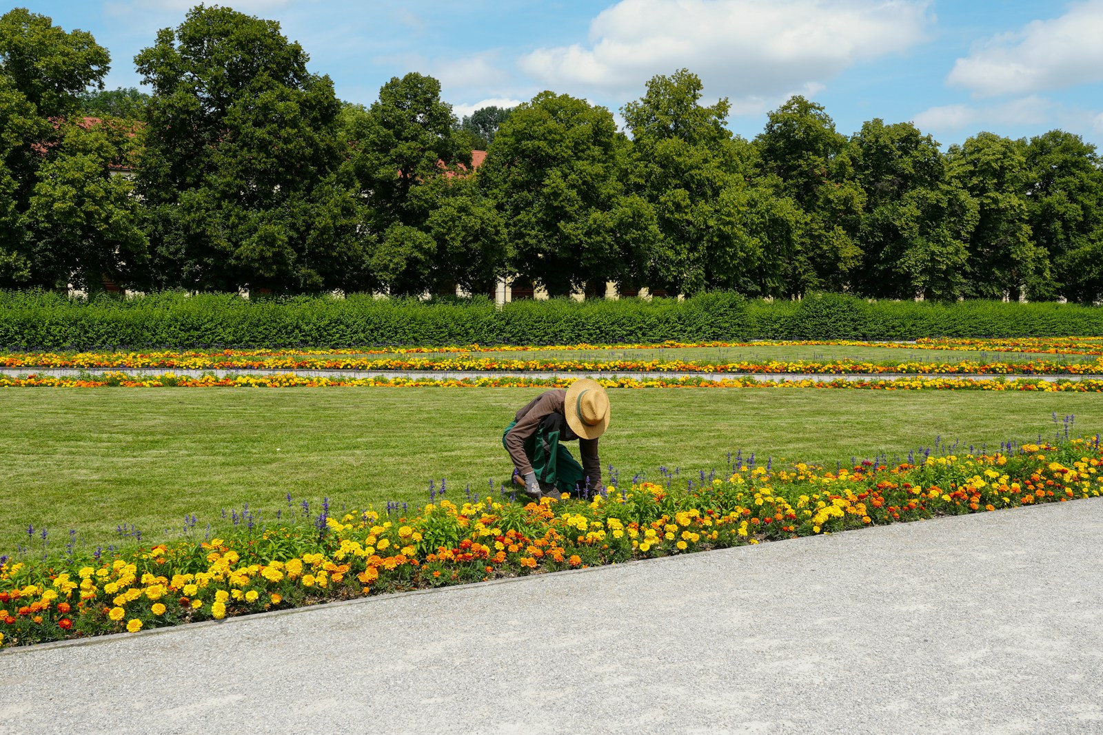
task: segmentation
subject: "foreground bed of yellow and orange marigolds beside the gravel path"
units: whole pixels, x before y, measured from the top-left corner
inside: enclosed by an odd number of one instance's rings
[[[64,559],[0,558],[0,644],[137,631],[370,594],[792,539],[867,526],[1103,495],[1099,436],[919,455],[889,467],[756,466],[719,476],[665,469],[581,499],[521,505],[432,490],[314,517],[288,496],[275,523],[247,508],[219,538]],[[436,496],[436,497],[433,497]],[[286,514],[286,517],[283,516]],[[190,526],[194,530],[194,520]],[[33,536],[34,529],[29,529]]]

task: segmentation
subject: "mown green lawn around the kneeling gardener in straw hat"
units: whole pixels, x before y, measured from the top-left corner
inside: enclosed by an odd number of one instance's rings
[[[175,533],[185,514],[276,508],[290,493],[336,508],[422,502],[430,479],[452,499],[508,479],[500,439],[539,389],[10,389],[0,391],[0,551],[46,526],[110,543],[118,523]],[[611,390],[603,464],[622,478],[661,464],[722,467],[728,451],[834,464],[906,456],[936,435],[963,445],[1052,435],[1051,412],[1103,430],[1085,393],[813,389]]]

